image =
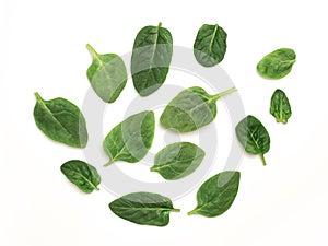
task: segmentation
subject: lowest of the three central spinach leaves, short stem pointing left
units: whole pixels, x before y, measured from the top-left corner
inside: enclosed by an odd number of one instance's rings
[[[155,155],[151,171],[159,172],[167,180],[179,179],[195,172],[204,155],[204,151],[194,143],[172,143]]]

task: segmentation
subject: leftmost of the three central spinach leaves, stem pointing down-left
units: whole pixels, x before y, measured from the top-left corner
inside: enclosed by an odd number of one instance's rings
[[[155,130],[153,112],[141,112],[118,124],[104,140],[110,165],[115,161],[139,162],[152,145]]]

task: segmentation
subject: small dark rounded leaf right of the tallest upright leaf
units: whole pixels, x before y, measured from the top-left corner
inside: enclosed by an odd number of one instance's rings
[[[194,55],[204,67],[220,63],[226,51],[226,33],[216,25],[202,25],[196,36]]]

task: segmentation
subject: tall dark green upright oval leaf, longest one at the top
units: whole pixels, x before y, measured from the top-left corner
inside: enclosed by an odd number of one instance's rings
[[[172,59],[173,45],[168,30],[145,26],[137,35],[131,58],[131,73],[137,92],[148,96],[164,83]]]

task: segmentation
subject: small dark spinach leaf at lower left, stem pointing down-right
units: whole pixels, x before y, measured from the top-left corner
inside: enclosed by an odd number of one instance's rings
[[[99,190],[97,186],[101,184],[101,176],[92,165],[79,160],[72,160],[63,163],[60,166],[60,171],[82,191],[91,194],[94,189]]]

